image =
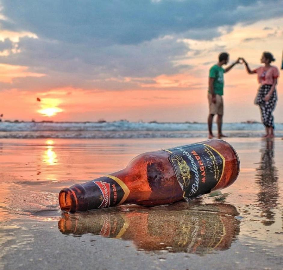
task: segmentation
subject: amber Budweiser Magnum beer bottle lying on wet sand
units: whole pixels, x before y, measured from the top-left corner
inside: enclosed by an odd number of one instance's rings
[[[206,140],[138,155],[121,171],[62,189],[59,204],[76,212],[129,203],[189,202],[229,186],[239,170],[238,155],[229,143]]]

